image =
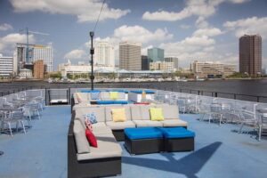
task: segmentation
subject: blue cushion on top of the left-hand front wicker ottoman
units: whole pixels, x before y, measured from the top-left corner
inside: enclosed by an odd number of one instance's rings
[[[162,132],[156,127],[125,128],[125,135],[130,140],[163,138]]]

